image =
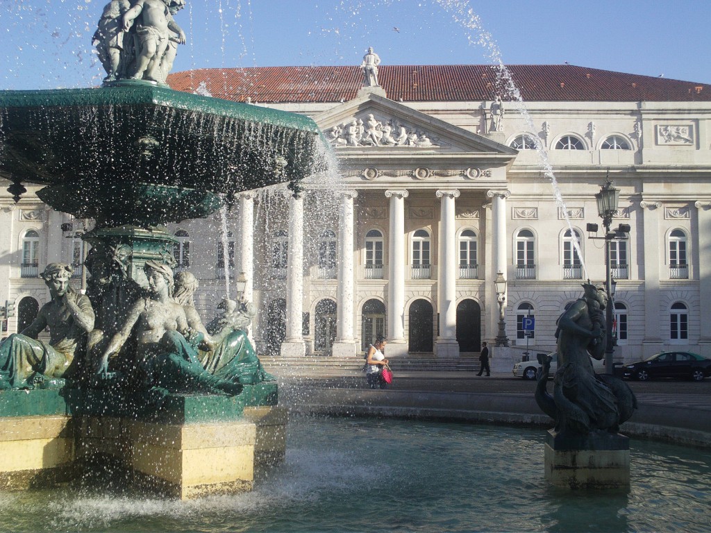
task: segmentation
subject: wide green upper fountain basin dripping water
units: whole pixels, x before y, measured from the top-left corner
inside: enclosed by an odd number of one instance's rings
[[[48,185],[40,198],[99,225],[205,216],[235,195],[298,183],[321,142],[308,117],[146,82],[0,91],[0,172]]]

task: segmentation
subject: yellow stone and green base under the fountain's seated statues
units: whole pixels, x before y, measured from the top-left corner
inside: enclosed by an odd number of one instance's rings
[[[32,402],[35,406],[61,407],[61,391],[5,391],[0,398],[22,411],[36,393],[43,402]],[[0,487],[46,488],[111,468],[124,471],[129,484],[182,500],[251,490],[255,472],[284,460],[287,411],[276,405],[244,407],[234,400],[176,395],[171,409],[141,419],[28,414],[26,409],[20,416],[4,416]],[[239,416],[230,416],[230,406]]]

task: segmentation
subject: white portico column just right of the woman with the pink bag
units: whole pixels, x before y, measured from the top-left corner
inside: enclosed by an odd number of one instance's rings
[[[386,190],[390,198],[390,235],[387,247],[387,354],[407,355],[405,341],[405,198],[407,190]]]

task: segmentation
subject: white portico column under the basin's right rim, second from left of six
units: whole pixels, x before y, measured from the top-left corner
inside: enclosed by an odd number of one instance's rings
[[[301,330],[304,309],[304,198],[289,198],[289,258],[287,263],[287,336],[282,343],[282,355],[306,355],[306,343]]]

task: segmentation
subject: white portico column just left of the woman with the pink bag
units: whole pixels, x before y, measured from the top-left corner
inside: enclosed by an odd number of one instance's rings
[[[347,190],[341,195],[338,214],[338,307],[336,308],[336,342],[333,356],[353,356],[358,351],[353,328],[355,304],[355,262],[353,262],[353,198],[358,191]]]

